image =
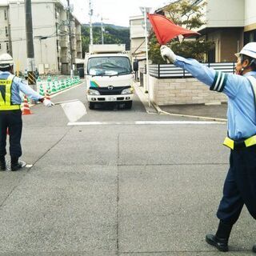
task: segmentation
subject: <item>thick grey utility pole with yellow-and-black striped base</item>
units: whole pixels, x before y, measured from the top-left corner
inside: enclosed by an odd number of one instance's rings
[[[34,63],[33,24],[32,24],[31,10],[32,10],[31,0],[25,0],[28,84],[32,87],[33,90],[37,90],[36,78],[34,74],[35,63]]]

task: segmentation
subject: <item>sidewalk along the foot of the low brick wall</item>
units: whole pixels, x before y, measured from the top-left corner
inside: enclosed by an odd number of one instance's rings
[[[139,86],[139,82],[134,82],[134,88],[138,98],[140,98],[142,104],[147,111],[154,111],[149,108],[148,94],[143,90],[142,86]],[[168,105],[168,106],[156,106],[153,104],[154,109],[158,114],[174,114],[186,116],[188,118],[213,118],[214,120],[222,119],[226,121],[227,104],[187,104],[187,105]]]

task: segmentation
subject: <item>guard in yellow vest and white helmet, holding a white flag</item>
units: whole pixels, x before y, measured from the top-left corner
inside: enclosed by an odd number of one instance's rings
[[[45,106],[52,106],[48,99],[32,90],[21,78],[13,73],[14,60],[10,54],[0,55],[0,170],[6,170],[6,130],[10,135],[10,169],[22,168],[18,158],[22,155],[22,98],[19,93],[26,94],[34,101],[43,102]]]

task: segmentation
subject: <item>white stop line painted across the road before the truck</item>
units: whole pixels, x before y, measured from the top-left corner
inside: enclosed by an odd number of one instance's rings
[[[226,122],[209,121],[134,121],[134,122],[69,122],[68,126],[113,126],[113,125],[216,125]]]

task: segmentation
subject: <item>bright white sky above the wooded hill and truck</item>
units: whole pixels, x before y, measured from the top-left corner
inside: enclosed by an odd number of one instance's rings
[[[66,0],[62,0],[66,3]],[[92,22],[129,26],[129,17],[141,15],[140,6],[152,7],[152,11],[165,6],[170,0],[91,0],[94,10]],[[74,5],[74,15],[82,23],[89,22],[89,0],[70,0]],[[151,12],[152,12],[151,11]]]

